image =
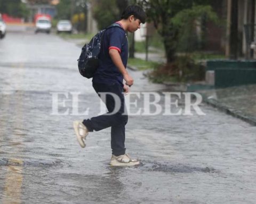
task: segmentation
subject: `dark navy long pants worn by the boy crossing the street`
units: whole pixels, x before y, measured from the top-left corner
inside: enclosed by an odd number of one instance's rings
[[[118,96],[121,100],[120,109],[113,115],[108,115],[112,113],[115,109],[115,100],[113,96],[106,95],[106,100],[103,102],[106,104],[108,113],[99,115],[97,117],[92,117],[83,121],[83,124],[89,131],[99,131],[105,128],[111,127],[111,149],[112,154],[115,156],[125,154],[125,125],[128,121],[127,114],[125,112],[123,87],[120,84],[103,84],[103,83],[93,83],[93,88],[99,95],[99,92],[110,92]],[[100,96],[100,95],[99,95]]]

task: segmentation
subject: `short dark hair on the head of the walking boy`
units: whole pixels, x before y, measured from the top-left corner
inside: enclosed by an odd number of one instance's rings
[[[139,19],[141,23],[145,23],[146,21],[146,13],[145,11],[137,5],[131,5],[125,8],[124,12],[122,13],[122,19],[128,19],[130,15],[134,15],[136,19]]]

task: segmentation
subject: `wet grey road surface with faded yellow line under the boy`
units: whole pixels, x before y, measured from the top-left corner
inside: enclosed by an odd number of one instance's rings
[[[0,40],[0,203],[255,203],[256,128],[205,104],[204,116],[130,116],[126,148],[138,167],[108,165],[110,129],[80,148],[72,121],[98,114],[100,101],[77,71],[79,53],[53,34]],[[132,91],[166,91],[130,73]],[[68,93],[58,109],[67,115],[52,114],[57,92]],[[72,115],[72,92],[89,116]]]

